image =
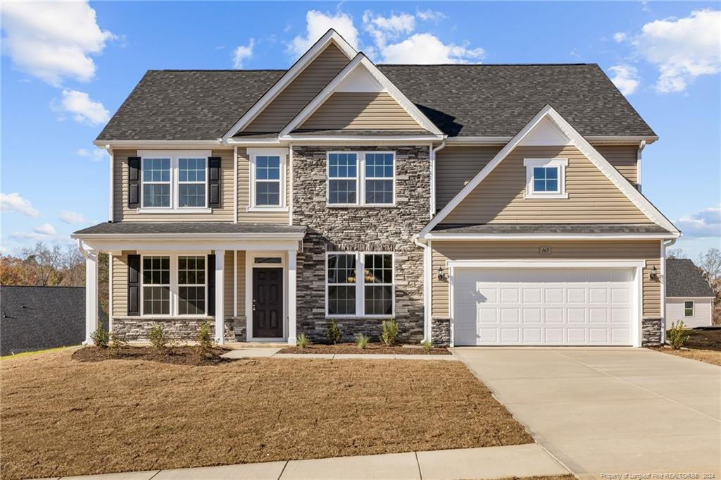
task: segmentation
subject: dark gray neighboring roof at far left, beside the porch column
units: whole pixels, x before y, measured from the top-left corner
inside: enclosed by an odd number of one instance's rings
[[[0,354],[85,340],[85,287],[0,287]],[[107,328],[107,317],[101,313]]]

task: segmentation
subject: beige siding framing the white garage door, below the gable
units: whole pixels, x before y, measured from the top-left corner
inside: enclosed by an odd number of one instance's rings
[[[552,255],[539,254],[539,246],[552,248]],[[640,241],[495,241],[495,242],[433,242],[433,268],[442,267],[448,275],[449,260],[645,260],[643,269],[643,316],[660,317],[661,284],[650,279],[655,266],[660,271],[660,243],[658,240]],[[448,317],[448,282],[432,275],[431,315]]]

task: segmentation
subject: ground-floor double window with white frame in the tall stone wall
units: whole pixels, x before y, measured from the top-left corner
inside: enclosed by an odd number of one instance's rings
[[[328,316],[389,317],[394,314],[392,253],[329,252]]]

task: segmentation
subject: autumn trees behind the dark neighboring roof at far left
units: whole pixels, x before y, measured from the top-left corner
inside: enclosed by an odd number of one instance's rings
[[[107,314],[108,257],[98,256],[99,305]],[[19,256],[0,256],[0,285],[35,287],[84,287],[85,258],[76,245],[61,248],[38,242],[20,251]]]

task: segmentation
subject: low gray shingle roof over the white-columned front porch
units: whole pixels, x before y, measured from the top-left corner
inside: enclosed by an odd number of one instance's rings
[[[74,232],[73,235],[138,235],[146,233],[305,233],[302,225],[228,222],[120,222],[99,223]]]

